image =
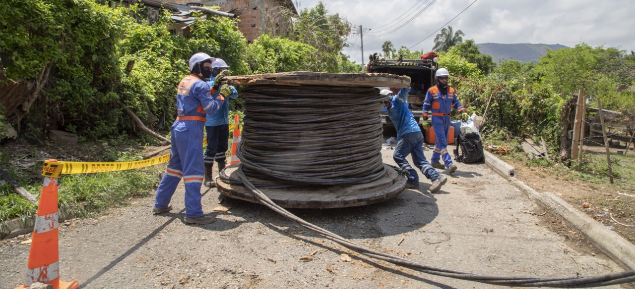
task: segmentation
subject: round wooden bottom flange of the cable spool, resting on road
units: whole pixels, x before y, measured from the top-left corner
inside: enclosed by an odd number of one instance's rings
[[[225,168],[225,175],[240,179],[237,173],[239,164]],[[387,174],[367,184],[351,186],[293,186],[291,188],[262,188],[260,191],[272,201],[284,208],[292,209],[331,209],[370,205],[384,202],[399,195],[406,188],[406,177],[399,176],[389,165],[384,164]],[[262,179],[250,179],[252,183],[271,183]],[[272,183],[273,184],[273,183]],[[229,184],[218,178],[216,186],[220,193],[230,198],[259,203],[246,186]]]

